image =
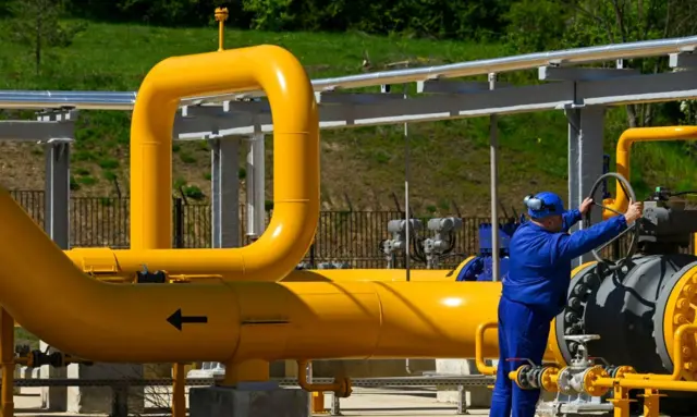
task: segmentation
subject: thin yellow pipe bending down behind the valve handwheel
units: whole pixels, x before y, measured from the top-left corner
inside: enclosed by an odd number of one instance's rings
[[[697,139],[697,126],[667,126],[667,127],[633,127],[622,133],[617,140],[616,150],[616,172],[629,179],[629,150],[635,142],[658,142],[658,140],[693,140]],[[628,207],[628,197],[622,192],[620,182],[616,182],[615,198],[604,200],[604,206],[612,210],[624,212]],[[603,218],[609,219],[616,216],[611,210],[603,211]]]

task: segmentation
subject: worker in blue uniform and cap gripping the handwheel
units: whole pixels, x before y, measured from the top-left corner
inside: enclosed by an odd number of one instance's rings
[[[611,241],[641,216],[641,204],[631,201],[627,211],[573,234],[568,229],[582,219],[592,200],[564,210],[554,193],[525,197],[530,221],[513,234],[509,275],[502,281],[499,302],[499,365],[490,416],[533,417],[539,390],[521,390],[509,372],[530,359],[541,365],[550,322],[566,305],[572,259]]]

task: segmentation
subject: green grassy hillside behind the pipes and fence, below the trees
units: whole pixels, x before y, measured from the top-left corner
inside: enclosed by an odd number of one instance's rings
[[[0,22],[0,25],[2,23]],[[3,38],[4,39],[4,38]],[[34,51],[0,41],[0,88],[54,90],[134,90],[147,71],[170,56],[217,49],[215,28],[166,29],[149,26],[88,23],[66,48],[45,51],[36,75]],[[381,38],[364,34],[271,34],[228,30],[227,48],[276,44],[290,49],[314,77],[360,72],[364,53],[372,69],[409,60],[412,65],[441,64],[503,56],[498,45]],[[533,73],[529,76],[534,76]],[[519,82],[521,75],[510,81]],[[3,116],[16,116],[4,112]],[[24,115],[32,116],[30,112]],[[609,112],[606,148],[625,128],[623,109]],[[129,123],[125,112],[83,111],[72,154],[77,195],[127,193]],[[565,194],[566,121],[562,112],[500,118],[500,181],[505,206],[519,207],[525,193],[548,188]],[[394,208],[402,201],[404,142],[402,126],[322,132],[322,198],[326,209]],[[409,126],[413,208],[421,213],[463,214],[489,211],[488,119],[468,119]],[[271,158],[270,138],[267,142]],[[0,143],[0,173],[13,188],[41,188],[44,159],[36,145]],[[680,144],[647,144],[633,154],[633,182],[646,192],[656,184],[685,187],[697,180],[693,148]],[[209,194],[209,161],[204,142],[174,145],[174,182],[192,196]],[[270,167],[270,160],[269,164]],[[640,168],[640,170],[637,170]],[[244,181],[244,172],[240,173]],[[269,181],[270,181],[269,172]],[[269,197],[271,186],[269,184]]]

